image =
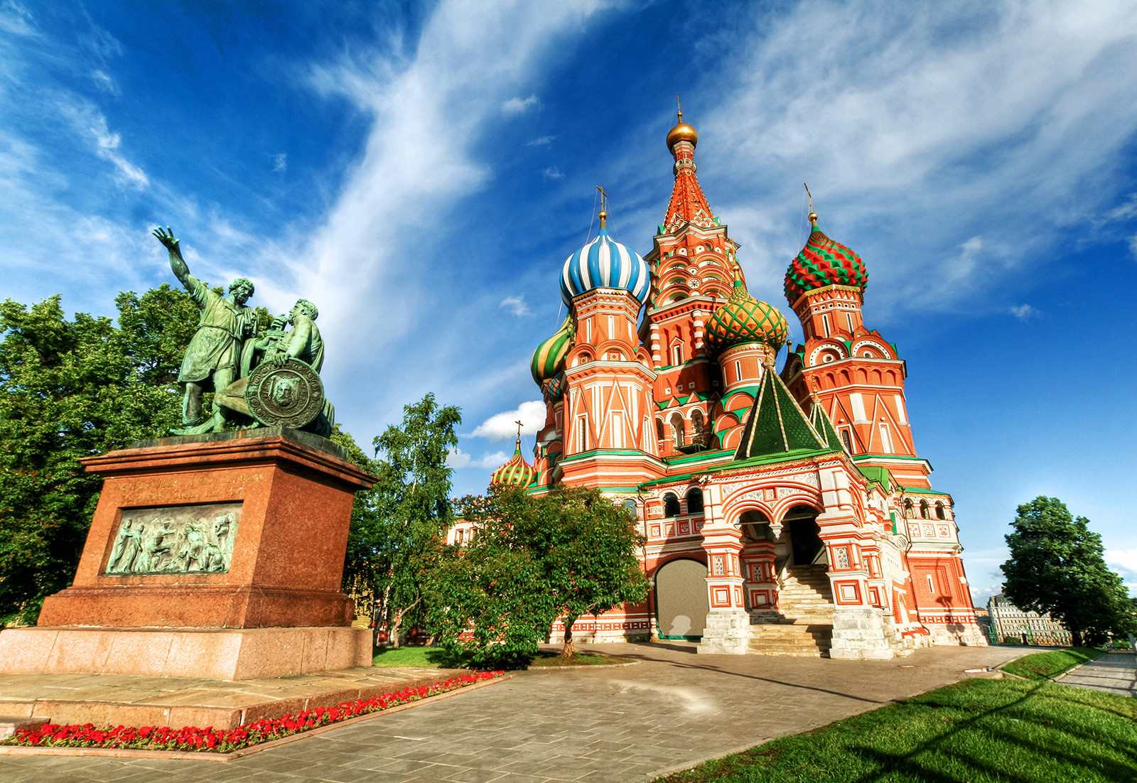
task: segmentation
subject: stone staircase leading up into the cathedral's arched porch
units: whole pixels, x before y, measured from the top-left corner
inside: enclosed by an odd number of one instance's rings
[[[750,625],[750,652],[824,658],[833,636],[833,593],[827,566],[790,566],[778,591],[777,613]]]

